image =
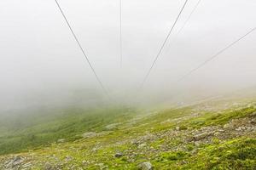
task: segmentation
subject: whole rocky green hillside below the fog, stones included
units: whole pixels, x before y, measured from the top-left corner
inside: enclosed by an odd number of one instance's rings
[[[255,101],[67,114],[14,133],[13,139],[32,133],[38,141],[48,139],[44,134],[52,140],[35,148],[26,139],[23,152],[0,156],[0,169],[255,169]],[[12,151],[20,149],[2,154]]]

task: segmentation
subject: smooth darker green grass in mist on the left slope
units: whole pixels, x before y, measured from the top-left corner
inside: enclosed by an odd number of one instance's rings
[[[32,150],[56,142],[58,139],[74,141],[85,132],[101,132],[113,122],[124,122],[134,111],[128,108],[106,108],[90,111],[68,109],[64,114],[48,117],[34,117],[34,122],[24,120],[15,122],[23,124],[20,129],[10,128],[0,137],[0,155]],[[28,115],[29,116],[29,115]],[[32,121],[32,120],[30,120]]]

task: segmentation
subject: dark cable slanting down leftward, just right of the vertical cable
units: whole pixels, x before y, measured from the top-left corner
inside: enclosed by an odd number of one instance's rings
[[[146,77],[144,77],[143,82],[142,82],[140,88],[143,88],[144,83],[147,81],[147,79],[148,79],[148,77],[149,77],[149,75],[150,75],[150,73],[151,73],[151,71],[152,71],[152,69],[153,69],[153,67],[154,67],[154,65],[155,65],[155,63],[156,63],[156,61],[157,61],[157,59],[160,57],[160,54],[161,54],[163,48],[165,47],[167,40],[169,39],[170,35],[172,34],[172,30],[173,30],[173,28],[176,26],[177,20],[179,19],[180,15],[182,14],[183,9],[185,8],[185,6],[186,6],[186,4],[188,3],[188,1],[189,1],[189,0],[185,0],[185,3],[183,4],[183,7],[181,8],[179,14],[177,15],[177,18],[176,18],[175,22],[173,23],[171,30],[169,31],[169,33],[167,34],[167,37],[166,37],[165,41],[164,41],[163,44],[161,45],[161,48],[160,48],[159,53],[156,55],[156,57],[155,57],[155,59],[154,59],[154,62],[153,62],[153,64],[151,65],[150,69],[148,70],[148,73],[147,73]]]

